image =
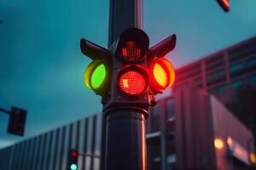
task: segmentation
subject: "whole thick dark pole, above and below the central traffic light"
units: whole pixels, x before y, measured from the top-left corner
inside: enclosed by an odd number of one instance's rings
[[[127,28],[143,29],[143,0],[110,0],[108,47]],[[145,120],[141,108],[105,111],[102,127],[101,169],[146,170]]]

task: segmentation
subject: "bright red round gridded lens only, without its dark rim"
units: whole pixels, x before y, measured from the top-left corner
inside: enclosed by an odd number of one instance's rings
[[[119,78],[119,87],[123,92],[125,92],[125,94],[143,94],[146,88],[146,79],[137,71],[126,71]]]

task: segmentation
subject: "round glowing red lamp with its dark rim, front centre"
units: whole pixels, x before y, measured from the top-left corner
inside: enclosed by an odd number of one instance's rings
[[[127,65],[119,74],[119,89],[126,95],[138,96],[148,87],[148,77],[140,65]]]

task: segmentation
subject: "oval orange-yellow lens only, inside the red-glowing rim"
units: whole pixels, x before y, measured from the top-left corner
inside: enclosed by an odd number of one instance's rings
[[[158,82],[160,84],[161,87],[163,87],[163,88],[166,87],[166,85],[167,85],[166,71],[158,63],[156,63],[154,65],[154,78],[155,78],[156,82]]]

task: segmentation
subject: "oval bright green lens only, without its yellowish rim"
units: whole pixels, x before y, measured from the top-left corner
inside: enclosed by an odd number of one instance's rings
[[[92,88],[99,88],[106,77],[105,65],[98,65],[91,75],[90,84]]]

